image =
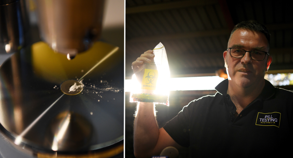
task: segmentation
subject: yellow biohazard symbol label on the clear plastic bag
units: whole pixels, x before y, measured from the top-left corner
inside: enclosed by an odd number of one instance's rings
[[[158,70],[144,69],[143,81],[141,82],[141,89],[156,90],[158,77]]]

